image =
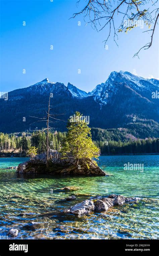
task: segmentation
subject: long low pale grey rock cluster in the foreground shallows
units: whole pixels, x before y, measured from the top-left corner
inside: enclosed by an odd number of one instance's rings
[[[121,195],[98,196],[95,199],[85,200],[64,210],[64,213],[71,213],[78,216],[87,215],[91,212],[104,212],[113,205],[120,205],[128,201],[140,200],[139,197],[124,197]]]

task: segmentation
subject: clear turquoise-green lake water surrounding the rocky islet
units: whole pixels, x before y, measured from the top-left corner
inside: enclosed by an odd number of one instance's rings
[[[27,158],[0,158],[0,235],[17,228],[17,239],[157,239],[159,237],[159,156],[101,156],[99,166],[109,177],[19,175]],[[144,172],[124,170],[125,163],[144,163]],[[73,192],[57,191],[77,186]],[[52,192],[53,189],[53,193]],[[61,211],[92,195],[138,196],[138,203],[114,206],[101,214],[75,217]],[[69,195],[76,200],[63,201]],[[33,225],[31,222],[36,222]]]

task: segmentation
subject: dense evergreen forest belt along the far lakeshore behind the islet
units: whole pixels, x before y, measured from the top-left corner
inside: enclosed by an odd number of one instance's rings
[[[159,153],[159,138],[140,139],[132,130],[92,128],[91,133],[93,141],[103,155]],[[50,149],[59,150],[64,137],[66,137],[66,132],[50,132]],[[38,131],[0,133],[0,156],[4,156],[6,153],[27,156],[28,150],[32,146],[37,148],[38,154],[46,152],[46,133]]]

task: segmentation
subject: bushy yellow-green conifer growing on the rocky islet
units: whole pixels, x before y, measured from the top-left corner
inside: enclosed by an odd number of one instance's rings
[[[75,120],[68,120],[67,129],[68,132],[61,148],[63,158],[75,159],[78,168],[79,159],[92,159],[99,156],[100,150],[92,141],[91,128],[82,119],[80,112],[75,112]]]

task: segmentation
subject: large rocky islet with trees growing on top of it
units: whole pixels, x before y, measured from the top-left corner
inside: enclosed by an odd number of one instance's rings
[[[49,151],[49,168],[46,168],[46,153],[18,165],[18,173],[51,173],[68,175],[108,175],[91,159],[80,159],[79,167],[72,158],[62,159],[56,150]]]

